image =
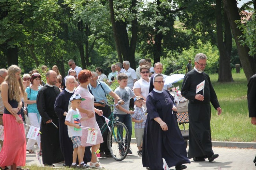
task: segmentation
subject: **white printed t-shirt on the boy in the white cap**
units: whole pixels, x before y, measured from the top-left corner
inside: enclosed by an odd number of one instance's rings
[[[66,121],[69,121],[70,123],[74,123],[77,124],[79,126],[81,126],[81,114],[79,112],[78,109],[73,110],[72,108],[69,109],[68,114],[66,115]],[[68,126],[68,134],[69,137],[73,137],[73,136],[82,136],[82,129],[77,129],[74,126]]]

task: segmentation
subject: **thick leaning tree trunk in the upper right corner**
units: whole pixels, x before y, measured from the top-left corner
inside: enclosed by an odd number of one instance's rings
[[[229,24],[232,30],[232,34],[234,36],[234,40],[237,45],[237,50],[239,54],[239,59],[241,61],[244,74],[249,80],[249,78],[256,73],[256,59],[249,56],[249,48],[247,46],[241,46],[239,43],[238,37],[242,34],[242,31],[237,28],[236,20],[241,20],[241,17],[238,12],[237,8],[237,1],[236,0],[223,0],[225,11],[228,16]]]

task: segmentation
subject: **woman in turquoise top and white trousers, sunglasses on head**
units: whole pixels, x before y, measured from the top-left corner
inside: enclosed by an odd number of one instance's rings
[[[28,104],[28,118],[30,121],[30,125],[34,127],[40,128],[40,122],[41,122],[41,116],[39,114],[39,111],[37,110],[37,94],[40,88],[40,82],[41,82],[41,75],[39,73],[34,73],[31,76],[30,79],[31,85],[26,88],[27,92],[27,99],[25,100],[25,103]],[[27,151],[29,153],[34,153],[32,149],[34,148],[35,141],[37,141],[38,147],[39,147],[39,155],[42,155],[40,143],[40,135],[37,136],[37,139],[28,139],[27,142]]]

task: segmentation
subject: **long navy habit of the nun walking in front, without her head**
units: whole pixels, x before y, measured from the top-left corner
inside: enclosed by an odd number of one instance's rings
[[[147,120],[145,124],[142,164],[152,170],[163,169],[164,158],[169,167],[190,163],[187,158],[185,141],[177,124],[176,115],[172,114],[174,98],[169,92],[152,91],[147,96]],[[163,131],[154,118],[161,118],[168,126]]]

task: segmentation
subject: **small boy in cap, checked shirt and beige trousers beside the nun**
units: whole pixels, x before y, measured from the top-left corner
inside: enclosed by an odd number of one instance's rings
[[[134,110],[134,113],[131,115],[131,121],[135,122],[134,129],[135,137],[137,140],[138,155],[142,155],[142,139],[146,123],[146,110],[142,106],[143,100],[144,99],[141,96],[136,96],[134,98],[134,104],[136,105],[136,108]]]

